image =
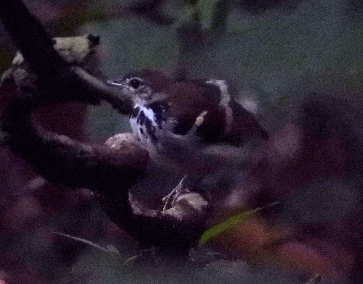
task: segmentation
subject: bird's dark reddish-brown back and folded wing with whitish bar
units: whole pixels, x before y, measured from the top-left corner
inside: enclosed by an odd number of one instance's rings
[[[164,121],[164,127],[176,135],[194,131],[204,142],[235,145],[253,136],[268,138],[254,114],[238,104],[233,89],[224,80],[180,82],[166,94],[165,101],[149,107],[156,122]]]

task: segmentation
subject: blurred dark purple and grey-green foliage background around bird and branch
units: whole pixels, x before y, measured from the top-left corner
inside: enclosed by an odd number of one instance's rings
[[[275,200],[281,204],[211,244],[229,259],[249,264],[212,262],[201,265],[195,275],[188,263],[146,253],[143,260],[123,265],[144,248],[106,218],[88,190],[47,183],[3,147],[0,279],[302,283],[322,273],[327,282],[360,283],[362,1],[26,4],[54,36],[101,35],[101,69],[107,77],[139,68],[159,69],[175,78],[213,76],[231,80],[242,97],[256,99],[271,139],[256,154],[248,178],[222,206],[251,208]],[[1,30],[2,71],[15,52]],[[6,97],[1,97],[0,111],[5,104]],[[37,111],[36,118],[47,129],[91,143],[130,130],[127,118],[108,105],[48,106]],[[179,178],[151,167],[133,192],[157,206]],[[122,260],[53,231],[111,244]]]

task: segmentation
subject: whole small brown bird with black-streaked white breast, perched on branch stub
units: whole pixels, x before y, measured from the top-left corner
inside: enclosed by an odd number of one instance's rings
[[[203,176],[243,169],[269,138],[234,88],[215,78],[175,81],[156,70],[137,70],[107,85],[132,98],[132,133],[156,164],[183,174],[163,198],[163,211],[195,191]]]

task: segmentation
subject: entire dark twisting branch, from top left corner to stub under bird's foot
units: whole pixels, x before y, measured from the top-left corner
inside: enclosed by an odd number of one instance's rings
[[[175,207],[165,212],[150,210],[130,198],[129,188],[142,178],[148,161],[147,151],[130,134],[120,134],[106,145],[88,146],[32,121],[34,110],[53,102],[97,104],[106,100],[124,114],[132,105],[125,94],[63,60],[20,0],[0,0],[0,4],[1,21],[37,74],[37,93],[21,93],[21,86],[4,81],[10,85],[5,89],[17,92],[15,97],[21,95],[8,103],[1,117],[1,131],[13,153],[50,181],[101,193],[110,218],[142,242],[184,250],[195,244],[205,228],[208,208],[199,194],[181,196]]]

